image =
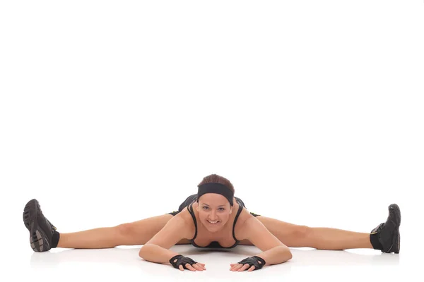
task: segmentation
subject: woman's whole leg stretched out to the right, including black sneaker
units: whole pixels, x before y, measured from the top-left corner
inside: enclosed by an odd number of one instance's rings
[[[320,250],[371,248],[395,253],[399,253],[400,249],[401,214],[396,204],[389,206],[387,221],[380,223],[371,233],[300,226],[266,216],[257,216],[257,219],[288,247],[314,247]],[[251,245],[251,243],[243,240],[241,245]]]

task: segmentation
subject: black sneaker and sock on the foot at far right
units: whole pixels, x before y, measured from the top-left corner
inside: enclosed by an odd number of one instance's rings
[[[401,209],[397,204],[389,205],[389,216],[387,221],[380,223],[370,233],[372,247],[382,252],[394,252],[399,254],[401,249],[401,234],[399,226],[401,225]]]

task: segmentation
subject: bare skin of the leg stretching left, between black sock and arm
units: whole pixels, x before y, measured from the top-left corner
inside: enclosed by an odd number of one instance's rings
[[[171,214],[123,223],[114,227],[102,227],[73,233],[60,233],[57,247],[76,249],[101,249],[119,245],[144,245],[162,229]],[[188,244],[181,240],[177,244]]]

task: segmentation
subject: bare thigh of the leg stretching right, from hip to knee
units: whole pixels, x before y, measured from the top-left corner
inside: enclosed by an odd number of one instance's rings
[[[257,216],[257,219],[274,235],[278,240],[288,247],[302,247],[302,238],[307,234],[307,226],[288,223],[266,216]],[[240,245],[253,245],[249,240],[241,240]]]

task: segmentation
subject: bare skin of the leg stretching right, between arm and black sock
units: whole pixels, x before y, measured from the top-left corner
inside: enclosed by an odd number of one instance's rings
[[[257,219],[288,247],[314,247],[320,250],[372,249],[370,233],[300,226],[266,216],[257,216]],[[242,240],[241,244],[252,245],[249,240]]]

